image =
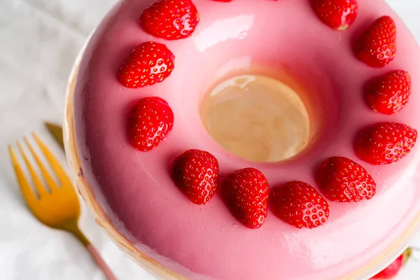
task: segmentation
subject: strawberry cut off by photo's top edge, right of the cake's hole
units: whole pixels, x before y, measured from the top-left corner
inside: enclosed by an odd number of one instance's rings
[[[356,0],[313,0],[318,18],[329,27],[346,30],[356,20],[358,4]]]

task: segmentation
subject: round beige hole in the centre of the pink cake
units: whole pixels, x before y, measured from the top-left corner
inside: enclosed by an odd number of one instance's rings
[[[292,158],[311,139],[309,113],[300,95],[268,76],[223,80],[204,97],[200,116],[218,144],[253,162]]]

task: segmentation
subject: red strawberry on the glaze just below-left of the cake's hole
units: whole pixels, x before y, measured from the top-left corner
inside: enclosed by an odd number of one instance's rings
[[[174,162],[172,179],[175,185],[195,204],[207,204],[216,191],[218,161],[205,151],[188,150]]]

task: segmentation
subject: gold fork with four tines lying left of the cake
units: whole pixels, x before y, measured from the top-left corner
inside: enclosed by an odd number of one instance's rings
[[[34,183],[34,190],[32,190],[29,181],[27,180],[22,168],[19,165],[18,158],[16,157],[13,148],[9,146],[10,158],[15,169],[15,174],[18,179],[20,190],[27,203],[27,206],[31,210],[32,214],[41,221],[44,225],[50,228],[58,230],[66,230],[73,234],[82,244],[87,248],[93,260],[97,263],[99,268],[104,272],[106,279],[116,280],[116,276],[113,275],[111,269],[106,265],[104,260],[101,258],[97,250],[90,244],[85,235],[78,228],[78,219],[80,216],[80,204],[76,190],[74,190],[71,180],[64,172],[64,169],[59,165],[58,160],[52,155],[48,148],[43,142],[34,134],[36,143],[41,148],[41,151],[45,155],[46,160],[49,162],[52,171],[55,173],[59,184],[55,183],[52,176],[49,174],[43,163],[41,162],[38,155],[36,155],[34,148],[27,138],[25,142],[29,147],[29,151],[34,156],[35,162],[38,165],[43,179],[48,186],[45,188],[40,177],[36,174],[34,168],[29,162],[29,158],[23,151],[22,145],[18,142],[18,148],[22,153],[23,159],[29,169],[32,181]]]

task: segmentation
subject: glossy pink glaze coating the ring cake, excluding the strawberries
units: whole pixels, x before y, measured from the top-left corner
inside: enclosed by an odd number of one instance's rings
[[[306,0],[195,0],[201,15],[195,34],[173,42],[140,29],[139,15],[151,1],[118,4],[87,46],[74,97],[83,176],[113,225],[141,251],[188,279],[339,279],[391,246],[420,209],[418,146],[389,167],[357,160],[377,182],[377,195],[358,204],[330,202],[328,223],[314,230],[293,228],[271,211],[262,228],[249,230],[232,217],[220,193],[206,206],[197,206],[168,173],[176,155],[199,148],[218,158],[222,179],[233,169],[251,166],[272,186],[295,179],[315,186],[314,167],[325,158],[356,160],[351,142],[360,127],[390,120],[419,130],[419,48],[384,2],[359,2],[358,19],[343,33],[325,27]],[[396,22],[398,52],[393,63],[378,70],[353,56],[351,42],[381,15]],[[135,45],[151,40],[174,52],[172,76],[138,90],[121,86],[118,67]],[[302,156],[278,164],[246,162],[224,151],[203,127],[202,94],[226,75],[253,71],[254,66],[275,77],[286,72],[316,93],[307,99],[317,108],[312,116],[323,129]],[[363,85],[393,69],[409,71],[413,93],[404,110],[383,116],[363,103]],[[126,117],[132,103],[146,96],[165,98],[175,125],[164,144],[140,153],[127,141]]]

